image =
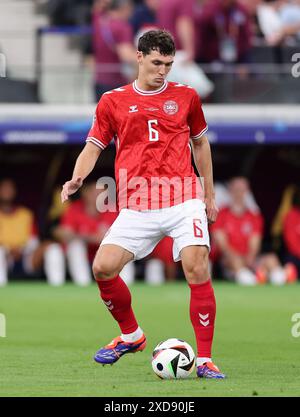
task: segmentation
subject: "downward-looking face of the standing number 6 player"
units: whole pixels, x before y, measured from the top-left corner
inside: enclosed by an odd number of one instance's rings
[[[161,55],[158,51],[151,51],[148,55],[137,53],[139,63],[139,79],[147,88],[161,87],[172,68],[173,55]]]

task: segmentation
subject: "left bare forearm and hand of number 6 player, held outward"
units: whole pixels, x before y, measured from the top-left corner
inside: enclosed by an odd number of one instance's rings
[[[75,168],[73,171],[72,179],[64,183],[61,192],[61,201],[64,203],[68,200],[69,196],[76,193],[82,186],[85,178],[92,172],[94,166],[101,154],[101,149],[88,142],[81,153],[79,154]]]

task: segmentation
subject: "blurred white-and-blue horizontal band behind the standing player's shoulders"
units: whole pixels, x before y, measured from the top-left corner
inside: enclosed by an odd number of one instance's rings
[[[300,143],[297,105],[204,105],[212,144]],[[0,105],[0,144],[82,144],[95,105]]]

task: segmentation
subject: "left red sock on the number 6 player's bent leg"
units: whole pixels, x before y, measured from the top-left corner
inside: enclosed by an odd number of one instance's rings
[[[131,308],[130,291],[119,275],[115,278],[96,281],[104,304],[118,322],[121,332],[128,334],[138,328]]]

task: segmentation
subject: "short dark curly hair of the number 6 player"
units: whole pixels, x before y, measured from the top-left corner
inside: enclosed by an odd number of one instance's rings
[[[175,55],[173,36],[166,30],[149,30],[139,38],[138,50],[143,55],[158,51],[161,55]]]

